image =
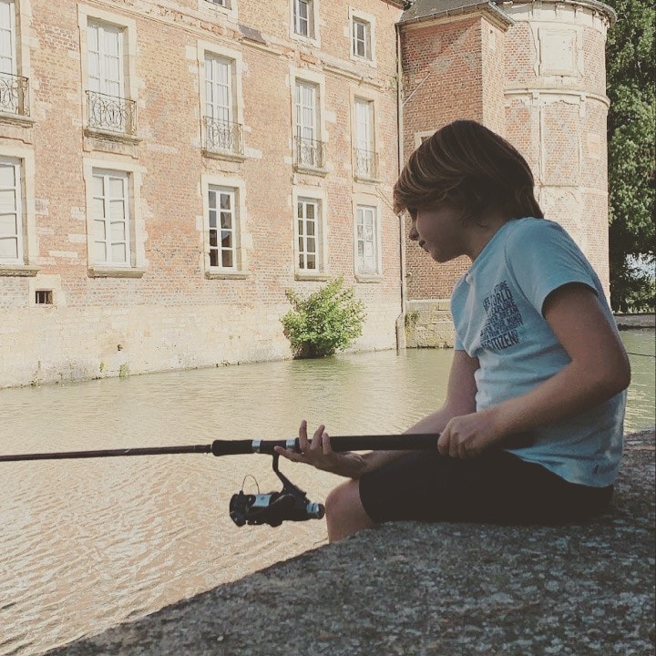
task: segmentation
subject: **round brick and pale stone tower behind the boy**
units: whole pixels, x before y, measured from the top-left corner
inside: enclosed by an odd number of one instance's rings
[[[497,3],[505,35],[506,134],[528,159],[546,216],[571,234],[609,292],[606,33],[596,0]]]

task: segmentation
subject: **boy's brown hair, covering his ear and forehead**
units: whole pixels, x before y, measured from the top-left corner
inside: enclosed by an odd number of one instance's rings
[[[395,211],[448,203],[463,220],[492,211],[507,219],[542,218],[526,159],[506,139],[476,121],[440,128],[410,156],[396,180]]]

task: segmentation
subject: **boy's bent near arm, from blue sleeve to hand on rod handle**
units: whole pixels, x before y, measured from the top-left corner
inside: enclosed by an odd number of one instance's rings
[[[630,365],[620,334],[587,285],[570,283],[551,292],[543,314],[571,362],[525,395],[453,419],[438,441],[441,453],[476,456],[505,436],[578,415],[628,387]]]

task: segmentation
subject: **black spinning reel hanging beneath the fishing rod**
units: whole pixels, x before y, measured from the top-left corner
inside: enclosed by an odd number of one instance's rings
[[[285,477],[278,468],[278,454],[273,455],[273,471],[282,480],[280,492],[269,494],[244,494],[241,489],[232,495],[230,516],[232,521],[242,527],[244,524],[268,524],[278,527],[283,521],[305,521],[321,519],[325,513],[322,504],[313,503],[299,487]],[[245,479],[244,479],[245,480]]]

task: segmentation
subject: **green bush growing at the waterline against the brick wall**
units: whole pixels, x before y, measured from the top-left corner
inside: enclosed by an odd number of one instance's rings
[[[352,287],[343,286],[343,276],[302,298],[287,290],[292,310],[282,319],[284,333],[296,358],[320,358],[345,349],[362,334],[366,318],[364,302],[354,299]]]

